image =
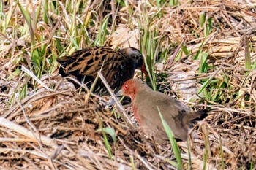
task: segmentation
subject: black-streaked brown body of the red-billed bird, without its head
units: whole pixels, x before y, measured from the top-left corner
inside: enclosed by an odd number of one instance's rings
[[[109,47],[88,47],[78,50],[70,56],[58,59],[62,65],[61,72],[64,76],[71,74],[81,81],[86,76],[86,80],[94,80],[97,72],[102,69],[102,74],[110,87],[116,91],[121,85],[131,79],[135,72],[133,64],[127,56],[112,50]]]

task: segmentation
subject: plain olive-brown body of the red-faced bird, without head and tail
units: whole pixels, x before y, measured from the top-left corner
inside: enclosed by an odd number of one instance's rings
[[[183,123],[180,114],[181,112],[188,111],[184,104],[181,104],[181,102],[175,98],[153,90],[142,91],[138,94],[139,96],[136,98],[137,104],[135,105],[138,106],[138,112],[142,113],[139,116],[140,119],[143,120],[141,121],[141,126],[144,127],[143,131],[145,131],[146,134],[155,136],[154,138],[157,142],[167,140],[165,128],[159,117],[159,112],[161,112],[162,117],[170,126],[173,134],[179,139],[187,140],[188,127]]]

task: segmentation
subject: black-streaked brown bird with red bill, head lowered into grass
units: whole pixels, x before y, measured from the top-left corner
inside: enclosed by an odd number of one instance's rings
[[[110,47],[86,47],[75,51],[72,55],[57,58],[61,64],[59,74],[62,77],[75,77],[80,82],[91,87],[100,69],[110,88],[116,93],[121,85],[133,78],[135,69],[148,75],[143,55],[135,47],[113,50]],[[94,93],[99,96],[108,95],[105,85],[98,80]]]

